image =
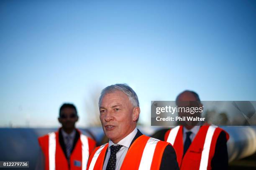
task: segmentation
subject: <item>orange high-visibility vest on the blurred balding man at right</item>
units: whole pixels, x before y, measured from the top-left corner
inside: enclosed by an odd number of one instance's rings
[[[164,136],[164,140],[173,145],[180,170],[210,170],[212,169],[211,160],[215,153],[216,142],[221,131],[224,130],[215,125],[203,125],[184,157],[183,126],[176,126],[168,130]],[[229,135],[227,132],[225,133],[228,140]]]

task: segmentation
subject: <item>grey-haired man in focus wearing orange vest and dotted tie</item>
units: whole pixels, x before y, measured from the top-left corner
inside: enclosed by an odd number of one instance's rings
[[[97,147],[87,169],[177,170],[176,153],[170,143],[143,135],[137,128],[138,96],[126,84],[110,85],[99,99],[100,121],[109,142]]]

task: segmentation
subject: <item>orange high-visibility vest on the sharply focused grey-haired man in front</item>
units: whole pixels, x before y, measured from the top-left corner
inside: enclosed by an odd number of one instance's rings
[[[158,170],[167,145],[170,144],[141,135],[128,149],[120,170]],[[107,149],[108,143],[95,148],[88,160],[87,170],[102,170]]]

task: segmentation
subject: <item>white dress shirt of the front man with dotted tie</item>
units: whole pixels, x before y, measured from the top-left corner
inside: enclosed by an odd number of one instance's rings
[[[136,133],[138,132],[137,128],[135,128],[129,135],[127,135],[125,138],[120,140],[117,144],[113,143],[111,140],[108,142],[108,153],[106,155],[103,168],[102,170],[105,170],[108,164],[108,160],[110,157],[110,146],[112,145],[123,145],[123,147],[116,153],[116,164],[115,164],[115,169],[120,170],[123,160],[125,158],[125,155],[131,145],[131,142],[133,138],[135,137]]]

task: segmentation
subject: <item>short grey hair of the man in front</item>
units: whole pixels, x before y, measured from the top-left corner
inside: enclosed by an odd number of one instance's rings
[[[105,89],[103,89],[100,94],[99,107],[100,107],[102,98],[106,94],[112,93],[115,91],[121,91],[121,92],[125,93],[125,95],[128,96],[133,107],[139,107],[138,96],[136,95],[136,92],[127,84],[115,84],[115,85],[110,85],[108,87],[105,87]]]

